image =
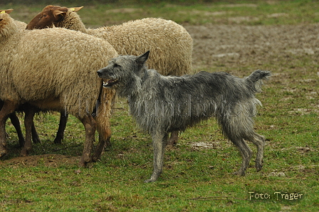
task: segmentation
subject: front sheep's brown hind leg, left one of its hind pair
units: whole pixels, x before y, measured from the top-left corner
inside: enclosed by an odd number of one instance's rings
[[[85,143],[83,154],[79,162],[79,166],[85,167],[86,164],[90,163],[90,154],[92,152],[94,137],[95,137],[95,129],[96,122],[92,116],[85,116],[83,118],[79,118],[79,120],[83,123],[85,128]]]

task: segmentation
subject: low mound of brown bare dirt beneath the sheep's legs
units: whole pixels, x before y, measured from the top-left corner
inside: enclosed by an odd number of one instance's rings
[[[27,157],[16,157],[13,159],[8,159],[0,161],[0,166],[51,166],[58,167],[61,165],[77,165],[80,157],[70,157],[61,154],[43,154],[43,155],[33,155]]]

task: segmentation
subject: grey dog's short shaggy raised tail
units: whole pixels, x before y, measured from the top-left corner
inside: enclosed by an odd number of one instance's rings
[[[267,80],[271,76],[271,72],[268,70],[255,70],[248,78],[246,83],[253,90],[253,92],[261,92],[261,85],[263,80]]]

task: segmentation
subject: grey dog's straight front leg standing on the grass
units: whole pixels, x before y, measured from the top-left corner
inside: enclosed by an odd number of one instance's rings
[[[163,169],[163,158],[164,150],[167,142],[167,133],[165,132],[156,132],[152,135],[152,144],[153,144],[153,173],[150,179],[147,179],[145,183],[154,182],[162,173]]]

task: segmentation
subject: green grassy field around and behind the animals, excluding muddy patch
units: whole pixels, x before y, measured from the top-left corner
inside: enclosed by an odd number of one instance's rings
[[[184,26],[308,26],[319,22],[317,1],[120,2],[83,4],[79,14],[90,27],[147,16]],[[12,17],[28,22],[46,5],[0,6],[15,9]],[[111,123],[113,145],[89,169],[77,166],[85,135],[75,117],[68,120],[63,144],[53,144],[58,113],[37,115],[41,144],[33,144],[31,156],[25,158],[19,157],[18,138],[8,121],[9,154],[0,160],[0,211],[319,211],[318,53],[319,48],[291,58],[265,56],[263,66],[274,75],[257,95],[263,107],[256,115],[256,131],[267,139],[260,172],[252,160],[245,177],[231,174],[239,168],[241,156],[222,136],[216,121],[209,120],[183,132],[177,146],[167,148],[160,179],[144,184],[152,173],[151,139],[127,114],[126,100],[119,99]],[[239,69],[251,69],[252,63]],[[212,72],[232,66],[226,61],[201,63],[194,65],[194,72],[197,67]]]

